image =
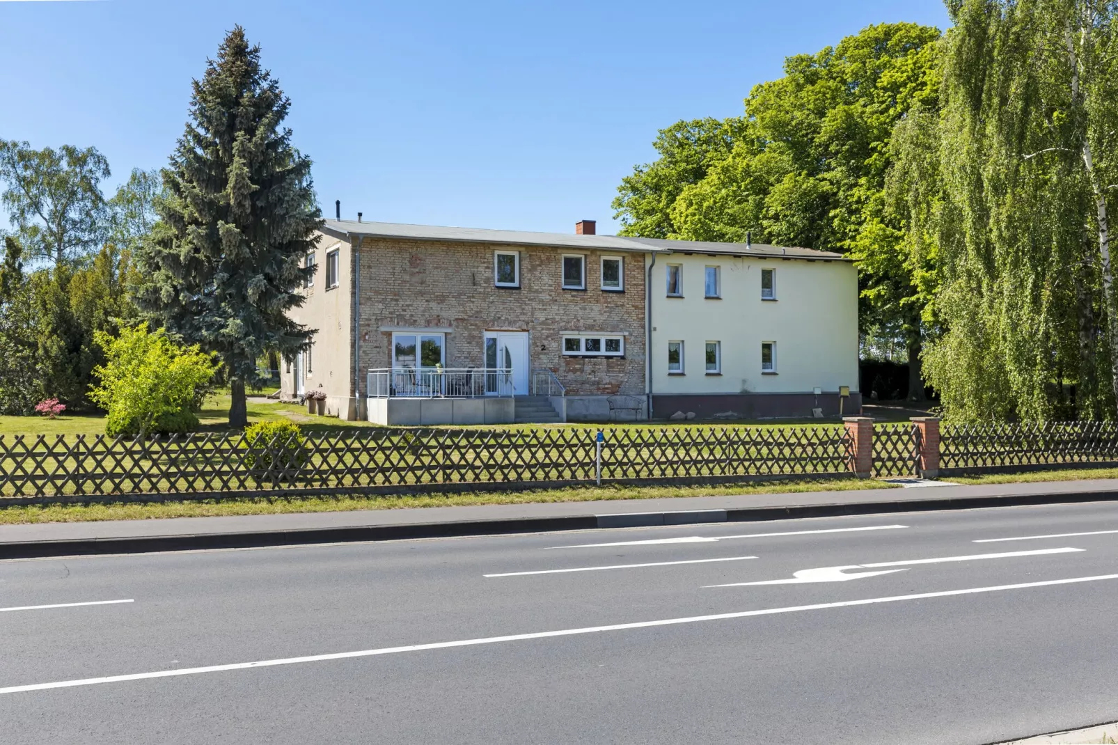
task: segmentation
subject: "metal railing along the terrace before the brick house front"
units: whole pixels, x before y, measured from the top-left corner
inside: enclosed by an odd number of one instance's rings
[[[369,398],[511,398],[512,370],[495,367],[385,367],[368,372]]]

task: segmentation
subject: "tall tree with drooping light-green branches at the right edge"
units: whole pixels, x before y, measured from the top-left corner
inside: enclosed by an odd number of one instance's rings
[[[1114,418],[1118,2],[948,9],[942,107],[898,125],[890,185],[939,273],[925,374],[957,419]]]

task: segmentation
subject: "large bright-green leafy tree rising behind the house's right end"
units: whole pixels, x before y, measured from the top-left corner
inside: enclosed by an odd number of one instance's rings
[[[863,327],[907,342],[910,393],[923,396],[922,319],[934,254],[911,255],[904,218],[885,194],[890,138],[913,107],[935,111],[940,32],[870,26],[752,88],[745,115],[679,122],[660,159],[637,167],[614,201],[627,235],[807,246],[860,264]],[[917,274],[920,277],[917,277]]]

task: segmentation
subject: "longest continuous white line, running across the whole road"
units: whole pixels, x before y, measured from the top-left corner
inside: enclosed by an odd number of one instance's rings
[[[633,629],[651,629],[655,626],[674,626],[684,623],[701,623],[704,621],[728,621],[731,619],[748,619],[757,615],[776,615],[779,613],[798,613],[800,611],[822,611],[833,607],[852,607],[855,605],[875,605],[880,603],[902,603],[904,601],[927,600],[929,597],[950,597],[953,595],[975,595],[979,593],[996,593],[1005,590],[1026,590],[1030,587],[1051,587],[1054,585],[1072,585],[1083,582],[1101,582],[1118,579],[1118,574],[1100,574],[1093,577],[1071,577],[1070,579],[1048,579],[1044,582],[1025,582],[1015,585],[996,585],[993,587],[969,587],[967,590],[947,590],[936,593],[912,593],[910,595],[892,595],[889,597],[870,597],[858,601],[840,601],[837,603],[816,603],[814,605],[793,605],[789,607],[769,607],[760,611],[739,611],[737,613],[718,613],[714,615],[693,615],[683,619],[664,619],[663,621],[641,621],[637,623],[616,623],[608,626],[587,626],[584,629],[565,629],[561,631],[539,631],[529,634],[510,634],[508,636],[485,636],[482,639],[463,639],[459,641],[435,642],[432,644],[411,644],[408,647],[386,647],[367,649],[358,652],[335,652],[333,654],[311,654],[307,657],[290,657],[282,660],[260,660],[258,662],[235,662],[233,664],[211,664],[205,668],[181,668],[179,670],[160,670],[157,672],[135,672],[125,676],[106,676],[104,678],[82,678],[79,680],[59,680],[47,683],[30,683],[27,686],[9,686],[0,688],[0,694],[20,694],[32,690],[49,690],[53,688],[73,688],[75,686],[97,686],[100,683],[125,682],[129,680],[149,680],[152,678],[176,678],[179,676],[197,676],[206,672],[226,672],[229,670],[247,670],[250,668],[272,668],[281,664],[300,664],[303,662],[325,662],[329,660],[349,660],[358,657],[378,657],[380,654],[398,654],[400,652],[423,652],[434,649],[453,649],[455,647],[477,647],[480,644],[498,644],[502,642],[528,641],[532,639],[550,639],[553,636],[575,636],[606,631],[629,631]]]

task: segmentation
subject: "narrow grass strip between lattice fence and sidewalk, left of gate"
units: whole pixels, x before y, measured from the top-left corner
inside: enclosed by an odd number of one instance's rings
[[[53,504],[0,507],[0,525],[25,522],[83,522],[97,520],[151,520],[174,517],[282,515],[287,512],[344,512],[390,510],[407,507],[462,507],[468,504],[524,504],[532,502],[586,502],[612,499],[664,497],[718,497],[724,494],[783,494],[805,491],[892,489],[897,484],[856,479],[779,481],[719,484],[717,487],[572,487],[539,491],[463,492],[400,497],[274,497],[187,502],[116,502],[112,504]]]

